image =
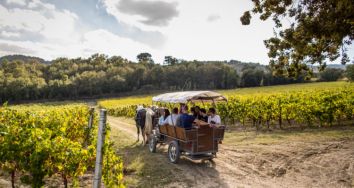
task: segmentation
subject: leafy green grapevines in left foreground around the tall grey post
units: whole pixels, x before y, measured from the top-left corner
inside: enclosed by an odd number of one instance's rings
[[[13,187],[17,176],[32,187],[42,187],[50,177],[78,187],[79,177],[94,169],[97,124],[97,115],[82,104],[5,105],[0,108],[0,169],[11,175]],[[122,186],[122,161],[112,149],[109,128],[106,137],[103,182]]]

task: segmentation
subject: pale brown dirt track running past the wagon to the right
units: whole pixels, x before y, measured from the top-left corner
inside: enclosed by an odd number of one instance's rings
[[[109,117],[136,138],[134,126]],[[167,187],[354,187],[354,139],[221,145],[214,162],[186,159]]]

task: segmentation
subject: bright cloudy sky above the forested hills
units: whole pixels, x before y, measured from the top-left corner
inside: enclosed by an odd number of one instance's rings
[[[148,52],[184,60],[267,64],[271,20],[240,17],[251,0],[0,0],[0,56],[52,60]],[[354,54],[352,55],[354,56]]]

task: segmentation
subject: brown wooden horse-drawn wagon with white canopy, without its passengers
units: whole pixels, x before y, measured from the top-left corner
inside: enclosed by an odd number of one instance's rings
[[[154,103],[187,104],[195,102],[227,101],[219,93],[212,91],[187,91],[158,95],[152,98]],[[157,144],[168,144],[168,158],[177,163],[184,155],[192,160],[211,160],[216,157],[218,144],[224,138],[225,126],[193,126],[184,129],[173,125],[156,125],[149,140],[150,152],[156,152]]]

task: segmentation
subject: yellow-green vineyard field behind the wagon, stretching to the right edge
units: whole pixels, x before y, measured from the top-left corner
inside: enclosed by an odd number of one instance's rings
[[[228,97],[228,103],[216,107],[226,124],[252,125],[257,129],[284,125],[331,126],[353,122],[353,91],[354,85],[345,82],[226,90],[220,92]],[[104,100],[99,105],[107,108],[109,115],[133,117],[136,105],[151,104],[151,97]]]

